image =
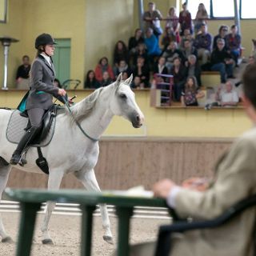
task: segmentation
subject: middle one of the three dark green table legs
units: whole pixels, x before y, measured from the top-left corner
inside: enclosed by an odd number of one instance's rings
[[[96,206],[82,205],[82,235],[81,235],[81,255],[90,256],[91,236],[93,227],[93,213]]]

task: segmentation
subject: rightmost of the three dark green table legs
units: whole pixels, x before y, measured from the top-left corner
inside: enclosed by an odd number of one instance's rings
[[[133,207],[117,206],[118,215],[118,254],[117,256],[129,255],[130,217],[133,215]]]

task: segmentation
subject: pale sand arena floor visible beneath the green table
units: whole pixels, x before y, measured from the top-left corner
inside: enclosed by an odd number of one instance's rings
[[[37,226],[34,233],[34,243],[31,256],[77,256],[80,255],[80,217],[70,215],[52,215],[50,219],[50,236],[54,240],[53,246],[42,245],[40,226],[42,214],[38,214]],[[18,213],[2,213],[2,220],[6,231],[14,241],[18,234]],[[116,239],[117,218],[110,217],[114,240]],[[133,218],[131,221],[130,243],[152,241],[158,233],[158,226],[170,223],[168,220]],[[115,245],[110,245],[102,239],[102,219],[94,217],[92,256],[111,255]],[[1,256],[14,256],[16,243],[6,244],[0,242]]]

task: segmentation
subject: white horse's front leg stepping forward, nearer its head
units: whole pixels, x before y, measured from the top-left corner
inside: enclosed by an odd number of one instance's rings
[[[87,190],[101,191],[98,186],[94,170],[75,172],[74,175],[80,182],[82,182],[83,186],[85,186]],[[107,212],[106,204],[100,205],[100,210],[102,214],[102,226],[105,233],[103,235],[103,239],[106,242],[113,244],[113,235],[110,229],[110,218]]]

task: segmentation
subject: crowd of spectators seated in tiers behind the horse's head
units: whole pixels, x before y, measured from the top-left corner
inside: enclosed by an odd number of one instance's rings
[[[122,40],[115,44],[113,65],[108,58],[102,57],[95,69],[87,72],[85,88],[107,86],[121,72],[125,77],[134,75],[133,88],[150,88],[154,74],[171,74],[173,99],[186,106],[196,106],[197,98],[202,97],[202,70],[218,71],[223,84],[228,78],[234,78],[241,52],[241,35],[235,25],[230,28],[222,25],[218,34],[210,34],[209,15],[202,3],[194,21],[186,2],[179,14],[170,7],[166,18],[154,2],[150,2],[142,18],[143,30],[135,30],[127,44]],[[164,29],[162,20],[166,21]]]

